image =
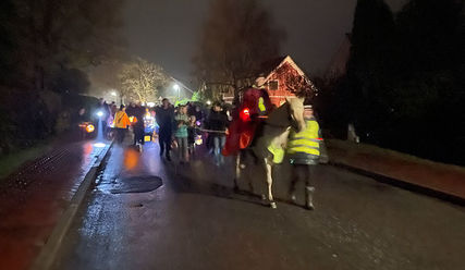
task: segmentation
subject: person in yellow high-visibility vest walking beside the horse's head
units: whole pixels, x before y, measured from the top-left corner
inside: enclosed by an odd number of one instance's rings
[[[313,202],[315,193],[314,171],[315,165],[319,163],[323,142],[311,106],[304,106],[304,120],[306,127],[298,133],[291,131],[287,140],[286,155],[292,165],[290,196],[295,204],[295,185],[299,180],[304,180],[305,207],[313,210],[315,209]]]

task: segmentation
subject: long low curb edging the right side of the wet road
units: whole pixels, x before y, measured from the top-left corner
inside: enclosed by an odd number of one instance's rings
[[[370,172],[370,171],[367,171],[364,169],[351,167],[351,165],[344,164],[342,162],[330,161],[328,164],[333,165],[333,167],[338,167],[338,168],[341,168],[341,169],[344,169],[344,170],[347,170],[347,171],[351,171],[351,172],[354,172],[354,173],[357,173],[357,174],[360,174],[360,175],[364,175],[364,176],[367,176],[370,179],[374,179],[375,181],[378,181],[380,183],[393,185],[393,186],[396,186],[396,187],[400,187],[403,189],[407,189],[407,191],[411,191],[414,193],[423,194],[426,196],[436,197],[436,198],[439,198],[439,199],[442,199],[442,200],[445,200],[445,201],[449,201],[449,202],[452,202],[452,204],[455,204],[458,206],[465,206],[465,199],[464,198],[452,195],[452,194],[448,194],[444,192],[436,191],[436,189],[429,188],[427,186],[421,186],[421,185],[413,184],[413,183],[402,181],[399,179],[389,177],[389,176],[381,175],[381,174],[378,174],[375,172]]]

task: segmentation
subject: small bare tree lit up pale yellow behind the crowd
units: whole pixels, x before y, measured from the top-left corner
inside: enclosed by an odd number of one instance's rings
[[[122,85],[121,95],[140,102],[155,100],[158,89],[169,81],[161,66],[140,58],[124,64],[119,77]]]

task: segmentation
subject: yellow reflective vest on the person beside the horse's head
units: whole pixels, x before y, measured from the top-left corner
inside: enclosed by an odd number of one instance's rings
[[[306,128],[302,132],[291,132],[290,139],[287,142],[287,154],[301,152],[320,156],[320,126],[315,119],[306,121]]]

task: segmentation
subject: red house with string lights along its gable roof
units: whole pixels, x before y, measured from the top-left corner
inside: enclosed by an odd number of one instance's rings
[[[313,83],[290,56],[265,62],[261,71],[254,87],[266,88],[271,102],[277,107],[284,103],[286,97],[295,96],[305,85],[315,89]],[[225,102],[232,102],[234,99],[232,93],[224,93],[222,98]]]

